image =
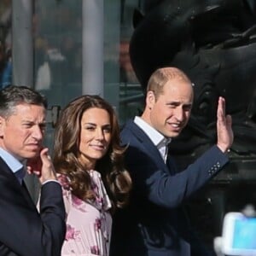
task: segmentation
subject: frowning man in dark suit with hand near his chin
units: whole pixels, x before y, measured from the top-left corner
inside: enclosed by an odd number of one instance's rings
[[[60,256],[65,238],[61,185],[42,142],[46,101],[25,86],[0,90],[0,255]],[[27,161],[27,162],[26,162]],[[40,213],[23,177],[42,183]]]

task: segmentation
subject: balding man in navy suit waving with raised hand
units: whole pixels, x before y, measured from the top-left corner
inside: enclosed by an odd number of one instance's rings
[[[231,117],[218,100],[218,141],[183,172],[177,172],[167,144],[187,125],[193,84],[175,67],[156,70],[148,81],[141,117],[129,121],[121,139],[128,145],[125,164],[131,172],[131,204],[113,218],[110,255],[207,256],[190,230],[183,202],[228,162],[233,143]]]

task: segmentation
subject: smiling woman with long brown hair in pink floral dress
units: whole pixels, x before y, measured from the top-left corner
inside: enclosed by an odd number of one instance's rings
[[[61,256],[108,256],[111,214],[131,190],[124,150],[116,114],[100,96],[80,96],[62,111],[53,160],[67,212]]]

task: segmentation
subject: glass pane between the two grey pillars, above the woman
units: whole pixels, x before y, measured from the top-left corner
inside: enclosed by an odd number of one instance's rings
[[[82,0],[35,1],[35,89],[49,105],[81,94]]]

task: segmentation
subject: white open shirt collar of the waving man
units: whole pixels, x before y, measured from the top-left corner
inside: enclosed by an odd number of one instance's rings
[[[142,118],[136,116],[134,123],[143,129],[155,146],[158,147],[162,143],[166,146],[171,142],[171,138],[164,137],[159,131],[156,131],[151,125],[148,125]]]

